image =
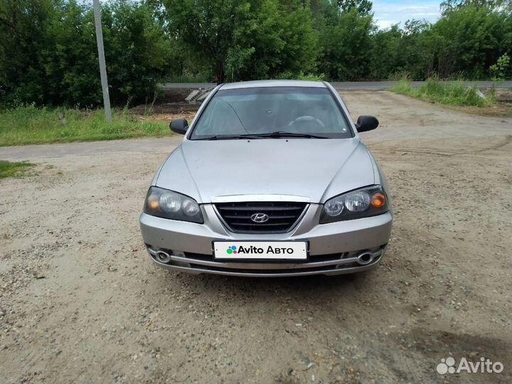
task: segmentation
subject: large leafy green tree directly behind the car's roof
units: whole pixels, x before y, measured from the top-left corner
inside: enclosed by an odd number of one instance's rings
[[[311,11],[289,0],[165,0],[169,29],[210,63],[217,82],[314,68]]]

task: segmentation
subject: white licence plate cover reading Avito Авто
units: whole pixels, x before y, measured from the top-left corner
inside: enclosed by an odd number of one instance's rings
[[[307,260],[306,241],[214,241],[213,251],[223,260]]]

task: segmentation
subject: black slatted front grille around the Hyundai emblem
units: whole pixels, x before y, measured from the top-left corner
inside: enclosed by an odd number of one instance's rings
[[[235,233],[286,233],[297,223],[306,203],[218,203],[215,208],[224,223]],[[268,220],[265,223],[255,223],[251,219],[255,213],[268,215]]]

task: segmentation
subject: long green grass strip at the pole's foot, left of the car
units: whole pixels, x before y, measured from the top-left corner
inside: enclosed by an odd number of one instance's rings
[[[168,123],[142,121],[126,110],[112,110],[112,123],[105,119],[104,110],[82,111],[26,105],[0,111],[0,146],[90,142],[169,134]]]

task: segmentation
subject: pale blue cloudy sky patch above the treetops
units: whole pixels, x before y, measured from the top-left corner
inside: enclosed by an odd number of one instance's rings
[[[373,12],[379,28],[388,28],[400,23],[403,26],[410,18],[434,22],[439,18],[439,0],[373,0]]]

